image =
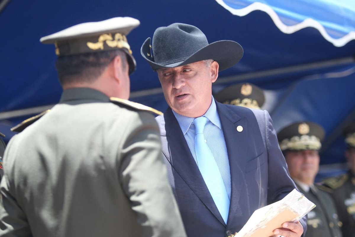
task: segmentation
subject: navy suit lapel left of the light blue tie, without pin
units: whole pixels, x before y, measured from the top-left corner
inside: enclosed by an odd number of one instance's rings
[[[223,225],[225,225],[223,218],[208,191],[206,183],[202,178],[200,170],[193,159],[179,123],[170,108],[164,112],[164,121],[165,124],[160,122],[159,125],[162,139],[162,151],[166,159],[191,190],[198,196],[202,203]]]

